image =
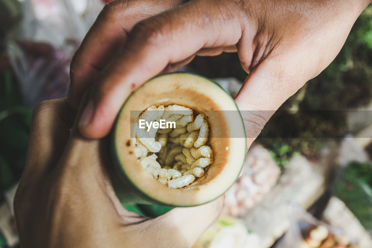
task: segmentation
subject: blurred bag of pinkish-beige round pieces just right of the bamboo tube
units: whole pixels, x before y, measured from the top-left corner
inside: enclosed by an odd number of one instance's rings
[[[280,169],[262,146],[251,147],[242,174],[225,194],[223,212],[241,216],[259,203],[276,184]]]

